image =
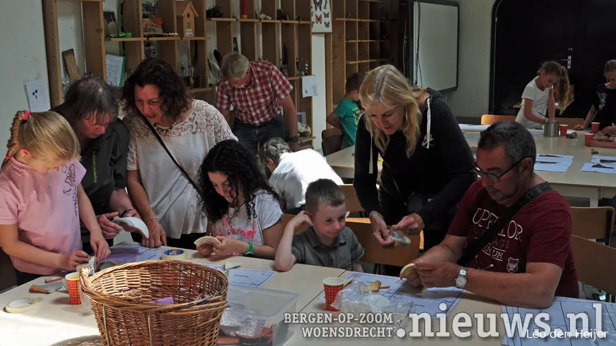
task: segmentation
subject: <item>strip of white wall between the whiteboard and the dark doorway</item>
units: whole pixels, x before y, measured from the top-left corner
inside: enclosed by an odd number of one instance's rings
[[[460,4],[458,89],[447,99],[458,117],[481,117],[489,107],[489,54],[492,0],[455,0]]]

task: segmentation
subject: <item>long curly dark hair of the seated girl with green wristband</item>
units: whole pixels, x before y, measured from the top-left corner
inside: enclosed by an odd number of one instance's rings
[[[259,190],[265,190],[281,200],[280,196],[272,189],[267,182],[265,175],[259,170],[255,157],[250,154],[238,141],[228,139],[220,141],[208,152],[199,168],[199,187],[200,202],[203,212],[208,216],[210,222],[221,220],[230,207],[223,196],[214,190],[214,185],[210,181],[208,172],[224,174],[227,176],[228,183],[232,191],[241,192],[244,197],[246,211],[250,218],[256,218],[254,210],[254,195]],[[234,197],[233,205],[236,206],[233,218],[239,212],[237,197]]]

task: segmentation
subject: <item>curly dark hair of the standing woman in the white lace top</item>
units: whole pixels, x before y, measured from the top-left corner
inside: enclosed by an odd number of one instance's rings
[[[190,108],[186,84],[173,71],[173,67],[159,58],[147,58],[140,62],[135,72],[124,83],[122,88],[124,111],[129,114],[139,114],[135,104],[135,87],[143,88],[148,84],[158,88],[162,102],[160,108],[168,117],[175,120]]]

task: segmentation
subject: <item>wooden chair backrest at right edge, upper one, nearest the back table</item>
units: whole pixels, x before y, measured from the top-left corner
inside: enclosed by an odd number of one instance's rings
[[[571,233],[585,239],[605,239],[609,246],[615,218],[613,207],[571,207]]]

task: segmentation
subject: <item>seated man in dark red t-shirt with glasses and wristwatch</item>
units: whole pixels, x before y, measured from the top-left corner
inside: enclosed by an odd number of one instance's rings
[[[466,266],[456,264],[465,246],[483,235],[507,207],[545,183],[533,172],[536,147],[516,122],[497,122],[481,134],[471,185],[445,240],[415,260],[407,280],[430,287],[457,286],[505,305],[544,308],[554,296],[579,298],[571,208],[555,191],[522,208]]]

